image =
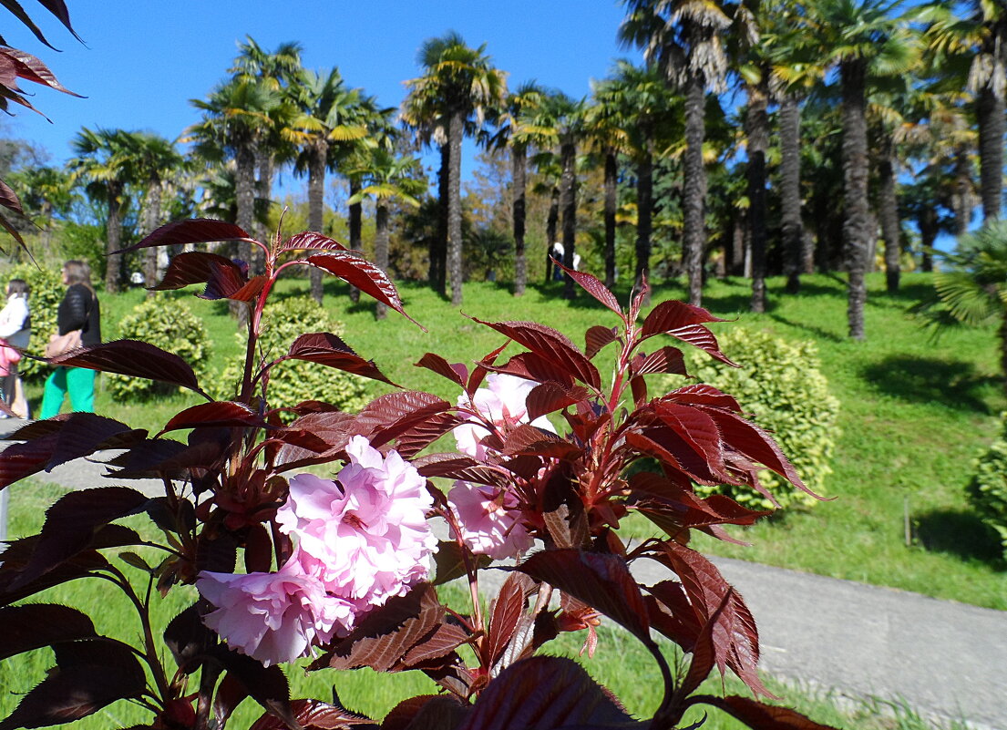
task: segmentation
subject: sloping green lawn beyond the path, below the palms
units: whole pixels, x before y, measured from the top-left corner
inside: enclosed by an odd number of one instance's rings
[[[906,316],[906,309],[929,291],[928,276],[904,276],[895,296],[883,292],[882,274],[871,275],[868,283],[865,342],[846,337],[845,283],[839,277],[806,277],[798,296],[783,295],[783,281],[770,279],[769,308],[762,315],[746,311],[746,281],[709,283],[704,305],[714,314],[817,342],[822,372],[842,403],[842,435],[828,482],[833,500],[747,531],[735,530],[753,544],[750,548],[705,536],[698,537],[697,546],[718,555],[1007,609],[1007,573],[996,541],[969,510],[963,491],[972,459],[994,436],[997,414],[1005,408],[995,333],[992,328],[960,330],[933,341]],[[306,291],[306,280],[290,280],[281,282],[277,295],[282,299]],[[534,319],[575,342],[583,342],[590,325],[616,324],[616,317],[586,294],[567,302],[560,291],[559,284],[533,286],[516,298],[503,284],[466,284],[465,303],[458,311],[426,287],[404,284],[407,311],[428,327],[427,333],[394,311],[375,320],[373,301],[365,296],[352,305],[345,287],[334,282],[326,290],[326,304],[345,322],[346,342],[374,358],[392,381],[453,401],[457,392],[452,384],[413,363],[426,351],[470,363],[502,342],[501,335],[464,315]],[[627,298],[626,291],[617,294],[622,301]],[[115,336],[116,321],[142,295],[132,291],[103,297],[107,338]],[[658,286],[655,301],[683,295],[679,286]],[[214,358],[223,363],[238,349],[226,305],[194,298],[188,302],[203,316],[219,347]],[[732,326],[725,322],[713,328]],[[604,358],[602,352],[595,360],[602,372]],[[376,395],[388,390],[374,386]],[[29,388],[29,396],[37,393],[37,386]],[[179,408],[196,402],[186,395],[124,406],[100,392],[97,408],[130,425],[156,430]],[[643,521],[631,521],[627,529],[637,534],[650,530]]]

